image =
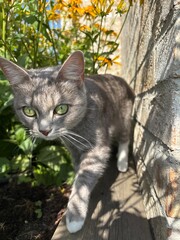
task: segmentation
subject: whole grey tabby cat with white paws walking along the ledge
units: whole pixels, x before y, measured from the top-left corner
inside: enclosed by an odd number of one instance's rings
[[[9,79],[14,108],[30,134],[61,139],[72,154],[76,177],[69,198],[66,225],[79,231],[86,219],[90,194],[102,176],[111,145],[118,143],[117,167],[128,168],[128,145],[134,94],[112,75],[84,77],[84,57],[74,52],[62,67],[25,70],[0,58]]]

